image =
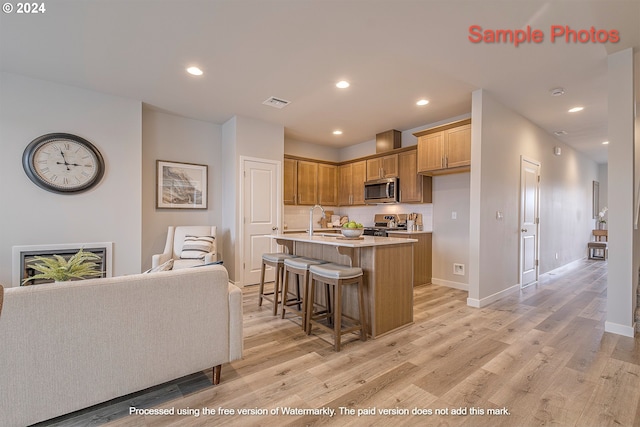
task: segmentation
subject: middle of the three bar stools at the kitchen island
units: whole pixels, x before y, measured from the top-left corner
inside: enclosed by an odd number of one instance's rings
[[[307,330],[307,301],[309,292],[309,267],[326,264],[327,261],[314,258],[288,258],[284,260],[284,285],[282,286],[282,318],[286,310],[297,313],[302,319],[302,329]],[[288,299],[289,273],[296,275],[296,297]],[[300,292],[300,276],[302,276],[302,293]],[[295,309],[294,307],[297,307]]]

